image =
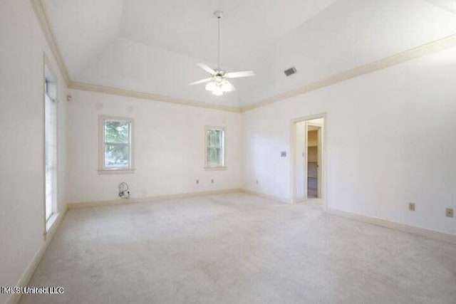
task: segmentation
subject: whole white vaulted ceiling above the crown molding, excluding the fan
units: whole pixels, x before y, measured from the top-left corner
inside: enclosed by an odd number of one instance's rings
[[[456,33],[455,0],[43,0],[72,80],[247,105]],[[195,63],[253,69],[213,96]],[[283,70],[295,66],[289,78]]]

